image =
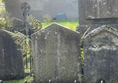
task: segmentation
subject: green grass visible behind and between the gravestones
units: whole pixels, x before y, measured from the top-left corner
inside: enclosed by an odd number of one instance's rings
[[[42,22],[42,26],[43,26],[42,28],[45,28],[46,26],[50,25],[53,22],[56,22],[62,26],[70,28],[70,29],[72,29],[72,27],[76,28],[76,26],[78,25],[78,19],[52,20],[50,22]],[[27,58],[29,58],[29,56]],[[24,63],[25,63],[25,61],[26,60],[24,58]],[[29,64],[28,64],[28,66],[29,66]],[[25,73],[29,73],[29,69],[25,69],[24,71],[25,71]],[[25,80],[27,80],[28,83],[32,83],[33,77],[27,76],[24,79],[3,81],[3,83],[24,83]]]

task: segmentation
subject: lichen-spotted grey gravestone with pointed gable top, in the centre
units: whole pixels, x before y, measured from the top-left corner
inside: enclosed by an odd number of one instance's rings
[[[36,83],[81,80],[80,34],[53,23],[32,34]]]

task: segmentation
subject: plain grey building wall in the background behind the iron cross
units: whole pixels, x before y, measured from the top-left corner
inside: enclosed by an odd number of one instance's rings
[[[27,2],[31,6],[29,14],[38,20],[44,20],[43,15],[49,14],[52,19],[56,14],[65,13],[67,19],[78,18],[78,0],[10,0],[5,7],[12,17],[23,19],[21,4]]]

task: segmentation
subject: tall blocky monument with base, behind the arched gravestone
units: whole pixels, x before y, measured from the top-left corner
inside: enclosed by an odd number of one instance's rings
[[[118,0],[79,0],[79,26],[83,34],[102,26],[109,25],[118,29]]]

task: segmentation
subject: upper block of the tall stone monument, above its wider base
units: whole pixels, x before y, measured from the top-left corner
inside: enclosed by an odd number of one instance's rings
[[[98,4],[102,4],[102,2],[107,3],[107,4],[99,6]],[[89,24],[103,24],[104,25],[107,23],[110,23],[110,24],[118,23],[118,18],[116,18],[118,15],[116,11],[118,9],[118,7],[116,6],[117,3],[118,3],[117,0],[112,0],[112,1],[111,0],[79,0],[78,1],[79,25],[89,25]],[[101,11],[95,8],[94,6],[96,6],[98,9],[100,8]],[[97,12],[100,15],[98,15]],[[115,16],[112,16],[114,14]]]

